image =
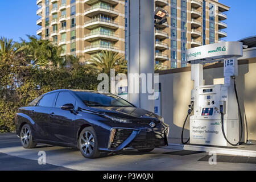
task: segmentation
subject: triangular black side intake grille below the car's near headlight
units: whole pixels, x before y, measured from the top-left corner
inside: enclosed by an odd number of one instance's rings
[[[110,148],[116,148],[121,143],[123,143],[128,137],[130,137],[133,130],[130,129],[116,129],[113,142],[110,145]]]

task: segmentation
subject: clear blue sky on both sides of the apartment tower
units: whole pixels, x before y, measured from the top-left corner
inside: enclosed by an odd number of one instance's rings
[[[256,35],[255,0],[219,0],[230,6],[226,12],[228,19],[228,37],[224,40],[238,40],[247,36]],[[0,0],[0,36],[26,39],[26,34],[36,35],[39,26],[36,20],[36,0]]]

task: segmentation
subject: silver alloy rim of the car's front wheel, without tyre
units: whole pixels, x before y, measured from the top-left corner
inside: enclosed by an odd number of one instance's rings
[[[81,137],[81,149],[85,155],[92,154],[94,148],[94,137],[89,131],[85,131]]]

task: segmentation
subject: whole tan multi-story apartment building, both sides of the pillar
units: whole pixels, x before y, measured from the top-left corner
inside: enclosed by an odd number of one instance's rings
[[[134,0],[131,0],[134,1]],[[150,0],[148,0],[150,1]],[[222,41],[222,22],[229,7],[217,0],[154,0],[167,11],[167,22],[155,28],[155,63],[185,67],[186,49]],[[127,2],[118,0],[37,0],[42,26],[37,35],[63,47],[63,55],[85,61],[101,50],[127,54]]]

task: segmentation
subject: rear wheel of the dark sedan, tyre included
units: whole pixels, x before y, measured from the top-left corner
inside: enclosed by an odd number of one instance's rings
[[[32,133],[28,124],[23,125],[20,130],[20,143],[24,148],[35,148],[36,142],[32,141]]]

